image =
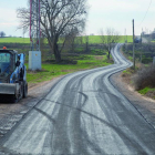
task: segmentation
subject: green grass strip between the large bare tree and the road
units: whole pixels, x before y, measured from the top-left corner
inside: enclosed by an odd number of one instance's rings
[[[42,64],[42,71],[38,72],[28,71],[27,81],[28,83],[39,83],[80,70],[87,70],[112,64],[106,60],[105,55],[102,56],[87,55],[87,59],[86,56],[84,58],[85,58],[84,60],[78,60],[78,64]],[[25,65],[28,69],[28,64]]]

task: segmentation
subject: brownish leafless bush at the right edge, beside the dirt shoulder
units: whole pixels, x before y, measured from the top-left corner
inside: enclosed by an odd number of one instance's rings
[[[140,91],[144,87],[155,87],[155,66],[143,68],[137,71],[133,78],[135,90]]]

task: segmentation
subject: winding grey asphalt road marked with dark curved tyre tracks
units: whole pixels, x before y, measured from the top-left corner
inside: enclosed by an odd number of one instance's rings
[[[115,64],[64,76],[1,141],[4,154],[154,155],[155,130],[110,82]]]

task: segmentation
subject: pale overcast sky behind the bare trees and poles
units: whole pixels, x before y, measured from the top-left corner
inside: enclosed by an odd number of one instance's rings
[[[136,35],[142,32],[142,28],[144,31],[153,31],[155,28],[155,0],[152,0],[152,3],[151,0],[87,0],[87,2],[90,4],[85,28],[87,34],[99,34],[100,29],[105,30],[110,27],[122,35],[125,29],[127,34],[132,34],[133,19]],[[19,20],[16,10],[19,7],[27,7],[27,0],[0,0],[0,31],[4,31],[7,35],[23,37],[22,31],[17,30]]]

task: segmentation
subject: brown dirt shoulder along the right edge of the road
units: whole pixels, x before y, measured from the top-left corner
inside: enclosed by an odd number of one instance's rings
[[[118,72],[110,78],[113,85],[126,96],[140,114],[155,128],[155,101],[135,92],[121,76]]]

